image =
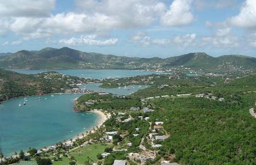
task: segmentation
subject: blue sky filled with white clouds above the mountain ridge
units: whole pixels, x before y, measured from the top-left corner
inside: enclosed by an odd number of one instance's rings
[[[0,52],[70,47],[129,57],[256,57],[256,0],[0,1]]]

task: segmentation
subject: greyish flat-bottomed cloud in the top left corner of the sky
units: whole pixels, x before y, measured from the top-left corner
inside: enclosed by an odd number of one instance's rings
[[[0,3],[0,16],[48,16],[55,7],[55,0],[8,0]]]

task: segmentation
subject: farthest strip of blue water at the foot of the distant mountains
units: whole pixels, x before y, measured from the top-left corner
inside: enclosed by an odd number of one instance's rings
[[[13,69],[12,71],[24,74],[37,74],[46,71],[56,71],[63,74],[68,74],[77,77],[83,78],[122,78],[122,77],[133,77],[136,75],[147,75],[147,74],[164,74],[159,72],[149,72],[141,70],[121,70],[121,69],[60,69],[60,70],[22,70],[22,69]]]

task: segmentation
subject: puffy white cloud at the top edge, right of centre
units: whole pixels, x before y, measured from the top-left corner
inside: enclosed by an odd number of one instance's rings
[[[191,11],[193,0],[175,0],[161,16],[161,23],[165,26],[183,26],[195,21]]]

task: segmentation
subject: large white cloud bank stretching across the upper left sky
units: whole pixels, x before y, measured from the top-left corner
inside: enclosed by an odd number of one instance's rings
[[[111,30],[150,25],[166,10],[165,4],[159,0],[88,0],[76,1],[78,9],[75,12],[53,15],[50,14],[50,11],[55,4],[54,0],[31,1],[24,3],[25,5],[18,5],[20,3],[16,2],[14,9],[20,15],[12,10],[2,12],[6,20],[1,18],[0,25],[3,24],[4,28],[0,30],[0,35],[11,31],[16,35],[24,36],[25,40],[29,40],[48,38],[58,34],[106,34]],[[33,7],[29,7],[29,5],[26,7],[29,2],[33,4]],[[3,3],[2,8],[4,9],[12,3],[14,0],[11,0],[9,4]],[[38,9],[34,15],[31,14],[38,7],[42,9]]]

